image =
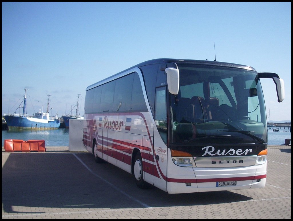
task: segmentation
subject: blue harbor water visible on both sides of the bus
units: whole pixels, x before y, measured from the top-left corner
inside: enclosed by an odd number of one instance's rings
[[[291,139],[290,129],[279,128],[279,132],[273,131],[275,127],[268,127],[268,145],[285,144],[285,139]],[[69,129],[59,128],[47,131],[9,131],[2,130],[2,146],[4,140],[45,140],[45,146],[68,146]]]

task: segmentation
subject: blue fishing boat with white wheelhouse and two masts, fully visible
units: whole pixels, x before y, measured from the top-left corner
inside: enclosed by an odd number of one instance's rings
[[[60,120],[56,116],[49,116],[49,98],[47,103],[47,111],[36,112],[33,116],[26,114],[26,91],[23,99],[23,113],[17,114],[16,111],[13,114],[4,114],[5,121],[7,123],[8,130],[47,130],[47,129],[58,129],[60,126]],[[22,104],[22,102],[21,102]],[[17,110],[17,109],[16,109]]]

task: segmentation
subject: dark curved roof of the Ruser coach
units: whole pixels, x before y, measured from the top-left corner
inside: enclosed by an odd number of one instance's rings
[[[227,63],[227,62],[220,62],[220,61],[210,61],[210,60],[192,60],[192,59],[175,59],[175,58],[156,58],[156,59],[152,59],[152,60],[147,60],[144,61],[142,63],[139,63],[137,65],[134,65],[130,68],[127,68],[123,71],[120,71],[117,74],[111,75],[103,80],[100,80],[92,85],[89,85],[86,90],[89,90],[93,87],[96,87],[98,85],[104,84],[106,82],[108,82],[109,79],[113,80],[115,79],[115,76],[120,75],[121,73],[127,71],[127,70],[131,70],[132,68],[139,68],[145,65],[153,65],[153,64],[167,64],[167,63],[193,63],[193,64],[201,64],[201,65],[214,65],[214,66],[223,66],[223,67],[231,67],[231,68],[242,68],[242,69],[246,69],[246,70],[253,70],[255,71],[254,68],[252,68],[251,66],[247,66],[247,65],[240,65],[240,64],[234,64],[234,63]]]

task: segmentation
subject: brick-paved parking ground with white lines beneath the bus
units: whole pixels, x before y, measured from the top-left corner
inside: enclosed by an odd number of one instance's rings
[[[269,146],[265,188],[170,195],[88,152],[2,147],[2,219],[291,219],[291,146]]]

